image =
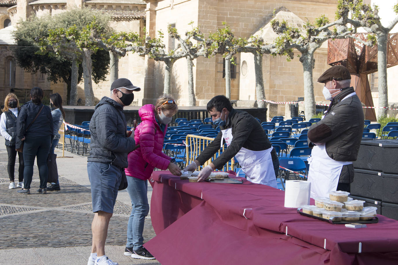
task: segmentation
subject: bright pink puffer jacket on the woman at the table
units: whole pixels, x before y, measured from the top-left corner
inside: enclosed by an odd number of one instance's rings
[[[167,126],[162,132],[155,120],[155,106],[144,105],[138,111],[142,122],[135,129],[135,144],[140,147],[129,153],[126,175],[147,180],[154,168],[166,170],[170,164],[170,157],[162,153],[164,135]]]

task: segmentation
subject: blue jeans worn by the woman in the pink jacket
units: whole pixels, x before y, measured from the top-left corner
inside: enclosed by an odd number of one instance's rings
[[[138,250],[142,247],[144,238],[142,231],[144,230],[145,217],[149,213],[148,204],[148,180],[140,180],[127,176],[127,192],[131,199],[131,214],[129,223],[127,224],[127,248]]]

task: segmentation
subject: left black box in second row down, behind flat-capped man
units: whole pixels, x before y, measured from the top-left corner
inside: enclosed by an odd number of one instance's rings
[[[382,200],[384,191],[381,173],[358,168],[355,168],[354,172],[351,195]]]

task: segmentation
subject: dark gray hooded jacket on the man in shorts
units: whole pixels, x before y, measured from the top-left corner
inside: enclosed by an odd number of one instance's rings
[[[126,137],[127,122],[123,106],[109,97],[97,104],[90,120],[91,151],[87,161],[127,167],[127,155],[133,151],[133,137]]]

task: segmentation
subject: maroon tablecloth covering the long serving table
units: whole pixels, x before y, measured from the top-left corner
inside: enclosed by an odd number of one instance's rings
[[[166,171],[152,179],[157,236],[145,247],[164,265],[398,264],[398,221],[382,215],[352,229],[299,215],[283,207],[284,191],[261,184],[189,183]]]

